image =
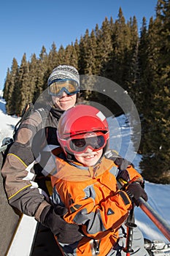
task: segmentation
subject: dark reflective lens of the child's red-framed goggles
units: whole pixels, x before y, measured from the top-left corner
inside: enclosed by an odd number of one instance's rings
[[[104,135],[98,135],[88,138],[79,138],[72,139],[69,141],[69,148],[73,152],[83,152],[87,147],[93,148],[94,151],[97,151],[101,148],[104,148],[106,145],[106,139]]]

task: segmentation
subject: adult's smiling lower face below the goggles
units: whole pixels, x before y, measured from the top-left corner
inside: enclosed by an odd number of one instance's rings
[[[58,96],[52,96],[54,105],[56,108],[60,108],[61,110],[68,110],[69,108],[74,107],[77,99],[77,94],[68,95],[65,91]]]

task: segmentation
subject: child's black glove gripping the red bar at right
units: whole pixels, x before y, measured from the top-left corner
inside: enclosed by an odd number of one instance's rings
[[[147,193],[144,191],[142,185],[139,182],[132,182],[126,187],[125,192],[130,197],[131,201],[139,206],[138,199],[142,197],[145,201],[147,201]]]

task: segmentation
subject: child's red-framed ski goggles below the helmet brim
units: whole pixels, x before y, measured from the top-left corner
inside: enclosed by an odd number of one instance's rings
[[[93,151],[98,151],[106,146],[108,138],[107,134],[104,134],[103,132],[88,132],[62,140],[62,143],[66,151],[72,152],[73,154],[84,153],[87,148],[91,148]]]

